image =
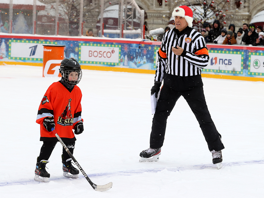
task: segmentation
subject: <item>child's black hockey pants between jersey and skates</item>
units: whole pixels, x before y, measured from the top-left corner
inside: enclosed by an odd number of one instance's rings
[[[48,160],[56,144],[57,142],[43,141],[43,145],[40,149],[40,154],[39,154],[37,162],[40,162],[43,159]],[[64,144],[68,147],[70,152],[73,154],[75,142],[64,142]],[[69,158],[70,158],[69,154],[66,152],[64,148],[62,148],[62,160],[66,161]]]

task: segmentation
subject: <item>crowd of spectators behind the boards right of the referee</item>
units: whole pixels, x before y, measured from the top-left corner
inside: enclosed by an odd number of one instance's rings
[[[215,43],[223,45],[252,45],[264,46],[264,32],[262,26],[244,23],[243,27],[235,31],[235,25],[230,24],[228,29],[221,28],[219,20],[215,20],[212,26],[205,22],[201,30],[206,43]]]

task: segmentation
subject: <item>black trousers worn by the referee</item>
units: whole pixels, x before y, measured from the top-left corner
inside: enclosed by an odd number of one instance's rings
[[[201,78],[200,75],[198,77]],[[186,79],[188,81],[187,77],[180,78],[183,78],[185,82]],[[198,86],[189,87],[187,88],[188,90],[179,91],[177,89],[181,89],[182,83],[180,78],[177,76],[173,77],[173,75],[164,74],[164,85],[161,89],[156,111],[152,121],[150,148],[162,147],[164,142],[167,118],[170,115],[177,100],[180,98],[180,96],[183,96],[200,124],[200,128],[202,130],[202,133],[204,134],[209,150],[219,151],[224,149],[224,145],[221,141],[221,135],[216,130],[216,127],[213,120],[211,119],[211,115],[205,102],[202,81]],[[197,76],[195,76],[195,78],[197,78]],[[191,79],[191,81],[193,81],[192,77]],[[194,81],[196,81],[196,79]],[[186,84],[185,82],[184,84]],[[193,82],[191,82],[191,84],[192,83]],[[194,83],[197,84],[197,81]]]

